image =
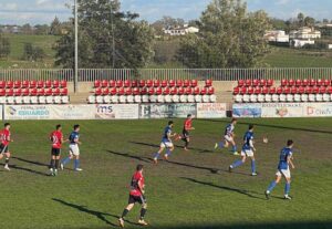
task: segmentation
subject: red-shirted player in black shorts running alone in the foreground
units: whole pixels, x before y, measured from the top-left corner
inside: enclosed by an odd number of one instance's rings
[[[124,218],[126,215],[133,209],[136,202],[141,204],[141,217],[138,223],[142,226],[147,226],[147,222],[144,220],[144,216],[146,214],[146,199],[144,196],[144,177],[143,177],[143,165],[137,165],[136,173],[134,174],[131,183],[131,191],[129,191],[129,200],[127,207],[123,210],[121,218],[118,219],[118,223],[122,228],[124,228]]]

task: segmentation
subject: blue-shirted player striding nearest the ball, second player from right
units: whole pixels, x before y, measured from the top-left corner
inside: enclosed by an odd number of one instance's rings
[[[242,158],[240,160],[235,162],[232,165],[229,166],[229,171],[236,167],[239,167],[243,163],[246,163],[247,157],[251,159],[251,176],[257,176],[256,173],[256,162],[255,162],[255,155],[256,148],[253,146],[253,125],[249,125],[249,131],[243,136],[245,144],[242,146],[241,156]]]

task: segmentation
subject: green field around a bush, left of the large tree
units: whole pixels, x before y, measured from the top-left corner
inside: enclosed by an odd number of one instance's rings
[[[0,59],[0,67],[14,69],[51,69],[54,67],[55,51],[52,49],[59,37],[55,35],[27,35],[27,34],[3,34],[10,39],[11,53],[8,59]],[[32,43],[45,52],[42,62],[30,62],[22,60],[24,43]]]

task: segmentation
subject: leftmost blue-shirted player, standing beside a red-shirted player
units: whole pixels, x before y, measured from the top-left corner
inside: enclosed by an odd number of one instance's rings
[[[75,171],[82,171],[83,169],[80,168],[80,148],[79,145],[82,143],[79,140],[80,139],[80,125],[74,125],[74,131],[71,133],[69,137],[70,142],[70,155],[68,158],[63,159],[61,162],[61,169],[64,168],[64,166],[72,159],[74,158],[74,170]]]

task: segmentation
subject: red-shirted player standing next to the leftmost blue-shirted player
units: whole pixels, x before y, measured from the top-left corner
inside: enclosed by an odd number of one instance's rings
[[[51,175],[56,176],[59,169],[59,160],[61,155],[62,143],[63,140],[62,126],[56,125],[55,131],[50,134],[50,140],[52,142],[51,148]]]

